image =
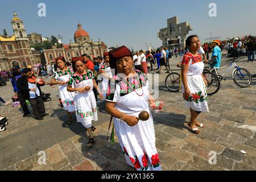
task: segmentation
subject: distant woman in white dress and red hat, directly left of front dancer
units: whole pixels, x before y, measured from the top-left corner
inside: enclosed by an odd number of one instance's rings
[[[102,77],[101,90],[102,94],[106,94],[108,88],[108,82],[112,78],[112,72],[109,65],[109,54],[108,52],[104,53],[104,61],[100,64],[100,75]]]

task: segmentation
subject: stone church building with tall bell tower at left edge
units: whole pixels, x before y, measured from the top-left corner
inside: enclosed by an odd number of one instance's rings
[[[23,21],[14,13],[11,19],[14,35],[0,35],[0,68],[11,69],[12,63],[17,61],[20,67],[34,65],[34,58],[28,44],[27,33]]]

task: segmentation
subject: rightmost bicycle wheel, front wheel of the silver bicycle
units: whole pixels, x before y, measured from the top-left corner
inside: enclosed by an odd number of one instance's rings
[[[240,70],[236,68],[233,78],[234,82],[242,88],[246,88],[251,84],[251,74],[245,68],[240,68]]]

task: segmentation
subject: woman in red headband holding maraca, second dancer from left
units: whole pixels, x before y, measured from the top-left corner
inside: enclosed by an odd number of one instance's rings
[[[86,127],[90,139],[88,146],[92,146],[95,140],[92,134],[92,121],[98,121],[97,104],[93,93],[93,87],[101,94],[100,88],[94,80],[94,74],[89,69],[85,69],[83,58],[73,61],[73,69],[76,72],[70,76],[68,81],[68,92],[76,92],[75,106],[76,106],[76,119]]]

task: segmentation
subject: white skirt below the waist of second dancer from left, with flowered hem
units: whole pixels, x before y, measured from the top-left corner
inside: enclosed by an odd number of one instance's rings
[[[92,127],[92,121],[98,121],[97,104],[93,91],[76,93],[76,119],[86,128]]]

